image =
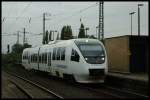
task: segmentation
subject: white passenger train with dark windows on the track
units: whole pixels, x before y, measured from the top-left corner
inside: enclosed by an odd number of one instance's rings
[[[104,82],[108,71],[104,45],[97,39],[57,40],[26,48],[22,54],[26,69],[40,70],[79,83]]]

